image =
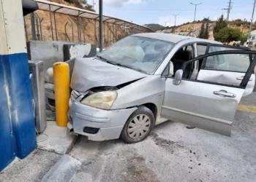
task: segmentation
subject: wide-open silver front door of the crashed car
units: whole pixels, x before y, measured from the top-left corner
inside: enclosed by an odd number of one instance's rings
[[[256,52],[247,50],[211,52],[187,61],[182,69],[184,70],[189,63],[196,60],[208,60],[215,65],[218,60],[214,60],[214,56],[237,54],[251,56]],[[255,64],[255,60],[249,63],[249,68],[246,69],[246,74],[238,85],[232,81],[219,83],[214,79],[212,81],[182,79],[179,84],[177,82],[173,84],[174,79],[167,78],[161,115],[166,119],[230,136],[236,108],[244,95]],[[227,72],[230,76],[235,76],[234,72]]]

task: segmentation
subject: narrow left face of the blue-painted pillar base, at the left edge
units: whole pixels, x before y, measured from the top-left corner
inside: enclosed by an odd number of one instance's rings
[[[7,93],[4,82],[3,60],[0,56],[0,171],[15,158],[12,142],[12,125],[8,111]]]

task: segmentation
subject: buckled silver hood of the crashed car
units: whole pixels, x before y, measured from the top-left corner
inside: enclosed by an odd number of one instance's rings
[[[85,92],[92,87],[117,86],[146,76],[147,74],[105,63],[97,58],[75,58],[70,87]]]

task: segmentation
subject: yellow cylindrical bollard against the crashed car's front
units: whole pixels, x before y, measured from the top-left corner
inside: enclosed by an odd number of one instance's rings
[[[69,111],[69,65],[64,62],[53,64],[53,82],[56,105],[56,121],[59,127],[67,127]]]

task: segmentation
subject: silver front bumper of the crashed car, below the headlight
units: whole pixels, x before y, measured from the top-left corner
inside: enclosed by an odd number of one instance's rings
[[[70,132],[88,136],[91,141],[106,141],[120,137],[121,130],[129,116],[137,108],[102,110],[81,104],[78,100],[69,102]],[[85,127],[99,129],[97,133],[85,132]]]

